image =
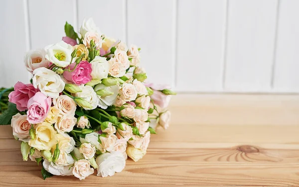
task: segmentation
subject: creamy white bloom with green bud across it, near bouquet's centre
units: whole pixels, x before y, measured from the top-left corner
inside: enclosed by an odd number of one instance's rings
[[[108,96],[97,95],[99,98],[98,106],[100,106],[103,109],[106,109],[108,106],[111,106],[113,103],[115,103],[116,97],[119,92],[119,86],[115,85],[115,86],[111,86],[111,87],[106,87],[103,84],[99,84],[95,87],[95,92],[97,92],[98,90],[102,90],[102,89],[105,89],[108,92],[113,92],[112,95],[108,95]]]

